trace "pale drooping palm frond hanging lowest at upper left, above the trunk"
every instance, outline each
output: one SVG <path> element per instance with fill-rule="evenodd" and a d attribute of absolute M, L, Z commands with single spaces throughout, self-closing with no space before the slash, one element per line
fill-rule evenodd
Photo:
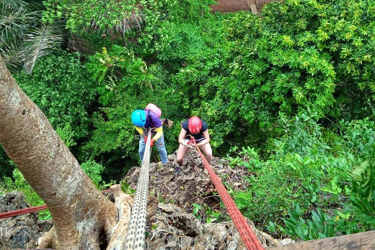
<path fill-rule="evenodd" d="M 23 68 L 26 73 L 33 71 L 38 58 L 45 56 L 60 46 L 62 42 L 61 27 L 55 23 L 35 28 L 30 34 L 24 36 Z"/>

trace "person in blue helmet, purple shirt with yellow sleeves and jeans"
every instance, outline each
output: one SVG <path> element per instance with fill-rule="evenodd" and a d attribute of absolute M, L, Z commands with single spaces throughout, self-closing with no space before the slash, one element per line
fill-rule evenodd
<path fill-rule="evenodd" d="M 156 134 L 151 139 L 150 146 L 153 146 L 154 142 L 156 142 L 156 146 L 159 150 L 160 158 L 162 160 L 162 164 L 165 165 L 168 163 L 167 157 L 167 149 L 164 144 L 164 133 L 163 133 L 163 123 L 160 120 L 159 116 L 150 110 L 144 109 L 137 109 L 134 110 L 131 114 L 131 121 L 137 131 L 142 135 L 141 139 L 139 140 L 139 157 L 141 161 L 143 161 L 143 155 L 145 154 L 145 147 L 147 136 L 144 135 L 144 129 L 151 129 L 155 128 Z"/>

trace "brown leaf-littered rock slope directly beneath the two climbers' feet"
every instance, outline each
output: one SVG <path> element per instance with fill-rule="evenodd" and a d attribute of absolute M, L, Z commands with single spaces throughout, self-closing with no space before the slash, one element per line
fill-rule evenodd
<path fill-rule="evenodd" d="M 175 174 L 176 154 L 177 152 L 168 155 L 168 164 L 165 166 L 162 166 L 161 163 L 150 164 L 150 195 L 158 197 L 159 201 L 173 203 L 188 213 L 193 211 L 193 203 L 199 205 L 205 203 L 225 214 L 226 209 L 220 207 L 220 198 L 213 193 L 216 189 L 207 170 L 204 169 L 199 154 L 195 150 L 190 150 L 180 172 Z M 248 182 L 242 179 L 244 172 L 248 172 L 247 168 L 236 167 L 233 169 L 229 167 L 228 161 L 220 158 L 213 158 L 211 167 L 219 178 L 234 190 L 247 189 Z M 139 171 L 140 167 L 133 167 L 124 178 L 132 188 L 137 187 Z"/>

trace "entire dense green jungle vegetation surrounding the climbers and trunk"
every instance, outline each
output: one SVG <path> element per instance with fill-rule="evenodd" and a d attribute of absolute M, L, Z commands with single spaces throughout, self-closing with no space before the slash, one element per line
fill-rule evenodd
<path fill-rule="evenodd" d="M 375 0 L 211 4 L 3 0 L 0 53 L 98 187 L 139 164 L 130 114 L 154 103 L 169 154 L 180 122 L 207 122 L 214 156 L 249 169 L 229 192 L 273 236 L 375 229 Z M 3 150 L 0 176 L 42 204 Z"/>

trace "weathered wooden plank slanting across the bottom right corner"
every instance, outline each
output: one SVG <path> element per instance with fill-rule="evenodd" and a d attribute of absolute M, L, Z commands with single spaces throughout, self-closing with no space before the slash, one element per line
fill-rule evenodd
<path fill-rule="evenodd" d="M 267 250 L 375 250 L 375 231 L 267 248 Z"/>

